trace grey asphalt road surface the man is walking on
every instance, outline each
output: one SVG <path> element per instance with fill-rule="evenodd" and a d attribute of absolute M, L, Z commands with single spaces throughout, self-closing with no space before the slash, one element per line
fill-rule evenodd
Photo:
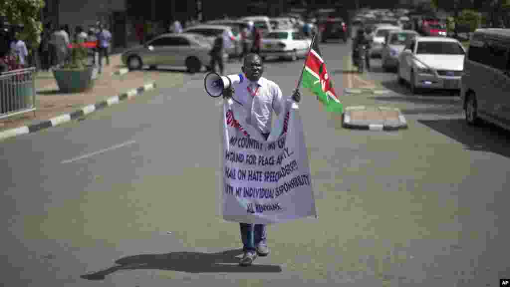
<path fill-rule="evenodd" d="M 321 45 L 339 94 L 347 47 Z M 289 95 L 301 65 L 267 61 L 265 76 Z M 366 81 L 393 77 L 376 74 Z M 319 218 L 270 226 L 270 256 L 238 267 L 239 227 L 218 216 L 220 108 L 203 76 L 0 142 L 3 285 L 498 286 L 510 277 L 510 134 L 466 126 L 450 97 L 398 91 L 341 95 L 345 105 L 401 108 L 409 129 L 391 133 L 342 129 L 303 92 Z"/>

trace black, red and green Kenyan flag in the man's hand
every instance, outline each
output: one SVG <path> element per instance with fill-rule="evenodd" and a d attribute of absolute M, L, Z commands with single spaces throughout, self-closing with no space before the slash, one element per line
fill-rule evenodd
<path fill-rule="evenodd" d="M 340 114 L 343 112 L 342 103 L 338 100 L 333 89 L 333 82 L 327 74 L 326 64 L 322 60 L 315 37 L 312 42 L 312 49 L 305 61 L 301 83 L 303 87 L 309 88 L 317 95 L 317 99 L 324 104 L 327 111 Z"/>

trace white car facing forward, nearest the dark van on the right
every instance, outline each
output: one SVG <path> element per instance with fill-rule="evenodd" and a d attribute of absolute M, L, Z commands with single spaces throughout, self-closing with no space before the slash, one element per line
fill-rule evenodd
<path fill-rule="evenodd" d="M 400 54 L 398 80 L 409 82 L 413 93 L 419 88 L 460 90 L 465 55 L 453 38 L 413 38 Z"/>

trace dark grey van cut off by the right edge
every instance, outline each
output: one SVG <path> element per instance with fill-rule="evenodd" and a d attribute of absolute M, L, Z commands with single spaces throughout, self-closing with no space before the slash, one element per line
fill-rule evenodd
<path fill-rule="evenodd" d="M 479 118 L 510 130 L 510 29 L 478 29 L 464 61 L 461 96 L 466 121 Z"/>

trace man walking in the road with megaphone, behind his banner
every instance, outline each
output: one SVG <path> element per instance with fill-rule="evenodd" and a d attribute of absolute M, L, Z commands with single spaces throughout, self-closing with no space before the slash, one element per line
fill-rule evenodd
<path fill-rule="evenodd" d="M 264 66 L 257 54 L 246 55 L 241 70 L 247 81 L 225 89 L 223 95 L 225 98 L 235 95 L 235 99 L 243 106 L 251 107 L 248 124 L 256 128 L 267 140 L 271 131 L 273 112 L 279 115 L 285 108 L 282 90 L 275 82 L 262 77 Z M 293 91 L 292 99 L 296 102 L 301 99 L 298 89 Z M 266 225 L 247 223 L 239 225 L 244 252 L 239 264 L 248 266 L 257 256 L 269 255 Z"/>

